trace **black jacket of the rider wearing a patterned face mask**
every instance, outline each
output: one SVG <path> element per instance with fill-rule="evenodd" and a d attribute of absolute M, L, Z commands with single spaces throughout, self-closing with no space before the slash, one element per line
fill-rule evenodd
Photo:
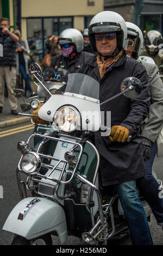
<path fill-rule="evenodd" d="M 92 56 L 94 56 L 94 54 L 90 52 L 80 52 L 71 59 L 62 56 L 62 54 L 58 54 L 52 59 L 51 67 L 62 68 L 68 70 L 70 73 L 76 73 L 76 71 L 83 64 L 84 60 Z"/>

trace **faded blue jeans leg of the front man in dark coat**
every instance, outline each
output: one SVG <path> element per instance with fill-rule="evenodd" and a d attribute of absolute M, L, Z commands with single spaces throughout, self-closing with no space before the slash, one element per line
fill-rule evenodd
<path fill-rule="evenodd" d="M 136 181 L 115 185 L 133 245 L 153 245 L 146 213 L 136 190 Z"/>

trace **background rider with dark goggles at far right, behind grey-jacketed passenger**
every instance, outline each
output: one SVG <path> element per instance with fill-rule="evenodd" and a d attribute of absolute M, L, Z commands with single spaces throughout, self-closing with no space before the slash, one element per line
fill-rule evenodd
<path fill-rule="evenodd" d="M 158 31 L 148 31 L 145 34 L 145 47 L 140 56 L 151 57 L 159 68 L 160 75 L 163 75 L 163 51 L 161 51 L 162 35 Z M 161 78 L 163 82 L 163 77 Z"/>

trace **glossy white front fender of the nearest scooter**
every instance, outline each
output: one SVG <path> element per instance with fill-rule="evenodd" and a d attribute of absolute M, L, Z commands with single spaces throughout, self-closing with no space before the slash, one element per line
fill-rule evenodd
<path fill-rule="evenodd" d="M 21 200 L 10 212 L 3 230 L 28 240 L 57 231 L 61 243 L 67 240 L 64 210 L 57 203 L 41 197 Z"/>

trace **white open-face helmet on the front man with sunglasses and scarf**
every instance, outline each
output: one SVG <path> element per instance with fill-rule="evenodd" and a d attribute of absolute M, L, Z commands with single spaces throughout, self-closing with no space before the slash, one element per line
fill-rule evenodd
<path fill-rule="evenodd" d="M 95 33 L 113 32 L 117 34 L 117 48 L 124 49 L 127 40 L 127 27 L 123 17 L 114 11 L 102 11 L 96 14 L 89 25 L 89 38 L 93 51 L 97 52 Z"/>

